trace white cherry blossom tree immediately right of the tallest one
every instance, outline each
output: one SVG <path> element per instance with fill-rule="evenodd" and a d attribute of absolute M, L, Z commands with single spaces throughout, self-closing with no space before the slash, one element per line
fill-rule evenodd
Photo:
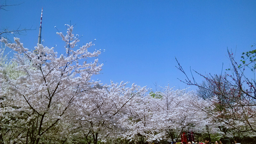
<path fill-rule="evenodd" d="M 115 140 L 127 129 L 124 120 L 128 109 L 133 105 L 133 99 L 144 95 L 147 89 L 135 84 L 129 88 L 125 87 L 126 84 L 96 84 L 93 90 L 86 91 L 76 101 L 79 109 L 78 124 L 88 143 Z"/>

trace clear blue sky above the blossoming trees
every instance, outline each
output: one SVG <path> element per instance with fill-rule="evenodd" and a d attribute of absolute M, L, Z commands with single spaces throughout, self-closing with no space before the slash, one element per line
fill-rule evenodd
<path fill-rule="evenodd" d="M 8 5 L 22 2 L 6 1 Z M 104 84 L 113 80 L 154 87 L 157 82 L 185 88 L 177 79 L 184 75 L 175 68 L 175 57 L 187 72 L 191 66 L 203 74 L 219 74 L 222 63 L 228 68 L 227 47 L 236 50 L 240 60 L 241 53 L 256 43 L 255 0 L 24 0 L 5 7 L 8 11 L 0 10 L 0 27 L 36 28 L 17 36 L 34 50 L 42 6 L 44 46 L 57 44 L 55 51 L 64 53 L 54 26 L 65 33 L 64 24 L 71 20 L 76 24 L 74 33 L 84 35 L 80 45 L 96 38 L 92 50 L 106 49 L 99 57 L 103 74 L 93 77 Z"/>

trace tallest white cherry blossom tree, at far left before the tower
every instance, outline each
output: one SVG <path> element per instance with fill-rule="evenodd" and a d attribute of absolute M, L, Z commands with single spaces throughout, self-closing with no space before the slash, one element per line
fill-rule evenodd
<path fill-rule="evenodd" d="M 78 36 L 68 26 L 67 35 L 57 33 L 66 43 L 65 54 L 58 56 L 54 48 L 37 44 L 38 54 L 24 48 L 19 38 L 1 42 L 17 53 L 12 59 L 16 71 L 25 75 L 13 79 L 6 68 L 0 69 L 1 134 L 5 143 L 42 143 L 54 128 L 75 113 L 74 100 L 94 83 L 91 76 L 99 74 L 103 64 L 100 51 L 89 52 L 92 42 L 76 48 Z M 29 61 L 29 63 L 27 63 Z M 47 137 L 46 137 L 47 136 Z"/>

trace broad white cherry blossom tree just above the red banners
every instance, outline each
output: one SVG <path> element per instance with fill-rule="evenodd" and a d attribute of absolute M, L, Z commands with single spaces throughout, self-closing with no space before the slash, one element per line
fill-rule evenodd
<path fill-rule="evenodd" d="M 203 100 L 195 92 L 173 90 L 168 85 L 163 92 L 155 92 L 134 99 L 130 107 L 124 137 L 129 140 L 175 141 L 181 132 L 204 132 L 206 115 L 203 111 L 191 107 L 192 102 Z"/>

